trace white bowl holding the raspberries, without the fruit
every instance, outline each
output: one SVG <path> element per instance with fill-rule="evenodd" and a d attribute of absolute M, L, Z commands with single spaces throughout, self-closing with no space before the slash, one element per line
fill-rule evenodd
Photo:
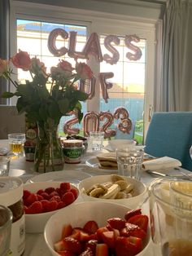
<path fill-rule="evenodd" d="M 60 183 L 61 182 L 56 182 L 56 181 L 55 182 L 25 183 L 23 188 L 27 189 L 29 192 L 34 193 L 34 192 L 37 192 L 39 189 L 46 189 L 46 188 L 49 188 L 49 187 L 59 188 Z M 76 188 L 76 187 L 71 184 L 71 188 Z M 78 197 L 79 197 L 80 192 L 79 192 L 78 188 L 76 188 L 76 190 L 78 192 Z M 78 197 L 76 198 L 76 200 L 78 199 Z M 66 207 L 68 208 L 68 206 L 65 206 L 65 208 Z M 25 214 L 25 231 L 27 233 L 41 233 L 41 232 L 43 232 L 44 227 L 46 226 L 46 222 L 50 218 L 50 216 L 52 216 L 56 212 L 59 212 L 60 210 L 61 209 L 46 212 L 46 213 L 41 213 L 41 214 Z"/>

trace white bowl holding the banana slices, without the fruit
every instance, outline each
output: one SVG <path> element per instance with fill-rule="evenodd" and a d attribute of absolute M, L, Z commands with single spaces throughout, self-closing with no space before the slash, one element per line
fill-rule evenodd
<path fill-rule="evenodd" d="M 122 176 L 128 183 L 133 183 L 133 197 L 124 198 L 124 199 L 101 199 L 92 196 L 88 196 L 83 192 L 91 188 L 96 183 L 106 183 L 111 181 L 111 175 L 97 175 L 87 179 L 82 180 L 79 183 L 79 190 L 81 192 L 81 197 L 84 201 L 106 201 L 112 202 L 120 205 L 126 205 L 130 209 L 136 208 L 146 196 L 146 185 L 137 179 L 131 179 L 125 176 Z"/>

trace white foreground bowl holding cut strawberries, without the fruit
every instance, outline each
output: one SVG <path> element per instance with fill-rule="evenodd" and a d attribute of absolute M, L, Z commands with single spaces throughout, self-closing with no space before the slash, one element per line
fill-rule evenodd
<path fill-rule="evenodd" d="M 109 202 L 80 202 L 70 205 L 68 208 L 63 208 L 58 213 L 54 214 L 46 223 L 44 237 L 46 245 L 50 249 L 53 256 L 58 256 L 54 249 L 55 242 L 61 239 L 62 227 L 66 224 L 71 224 L 72 227 L 83 227 L 89 220 L 94 220 L 98 223 L 98 227 L 106 226 L 107 219 L 113 217 L 124 218 L 124 214 L 129 210 L 124 205 L 111 204 Z M 147 250 L 147 245 L 150 241 L 150 231 L 148 228 L 147 237 L 143 242 L 142 252 L 137 256 L 144 255 Z"/>

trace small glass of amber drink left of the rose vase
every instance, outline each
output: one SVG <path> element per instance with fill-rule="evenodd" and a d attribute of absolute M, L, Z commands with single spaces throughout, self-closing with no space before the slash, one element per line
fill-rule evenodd
<path fill-rule="evenodd" d="M 25 134 L 9 134 L 8 135 L 10 150 L 14 155 L 24 154 Z"/>

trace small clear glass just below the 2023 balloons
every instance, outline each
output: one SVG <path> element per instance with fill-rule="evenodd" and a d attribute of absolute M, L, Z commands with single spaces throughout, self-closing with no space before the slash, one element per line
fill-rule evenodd
<path fill-rule="evenodd" d="M 90 147 L 93 151 L 102 150 L 103 139 L 104 139 L 103 131 L 90 131 L 89 132 Z"/>

